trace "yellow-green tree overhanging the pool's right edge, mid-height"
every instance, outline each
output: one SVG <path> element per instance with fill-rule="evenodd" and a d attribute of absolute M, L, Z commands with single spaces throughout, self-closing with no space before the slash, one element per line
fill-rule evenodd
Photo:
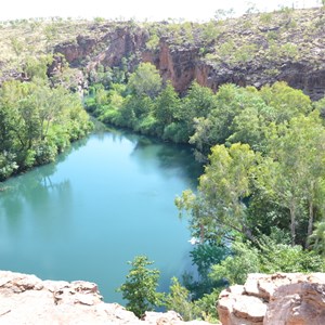
<path fill-rule="evenodd" d="M 191 211 L 194 226 L 200 229 L 202 242 L 207 234 L 231 239 L 243 235 L 253 240 L 246 202 L 252 195 L 259 158 L 248 144 L 211 148 L 210 165 L 199 178 L 197 195 L 186 191 L 176 200 L 180 210 Z"/>

